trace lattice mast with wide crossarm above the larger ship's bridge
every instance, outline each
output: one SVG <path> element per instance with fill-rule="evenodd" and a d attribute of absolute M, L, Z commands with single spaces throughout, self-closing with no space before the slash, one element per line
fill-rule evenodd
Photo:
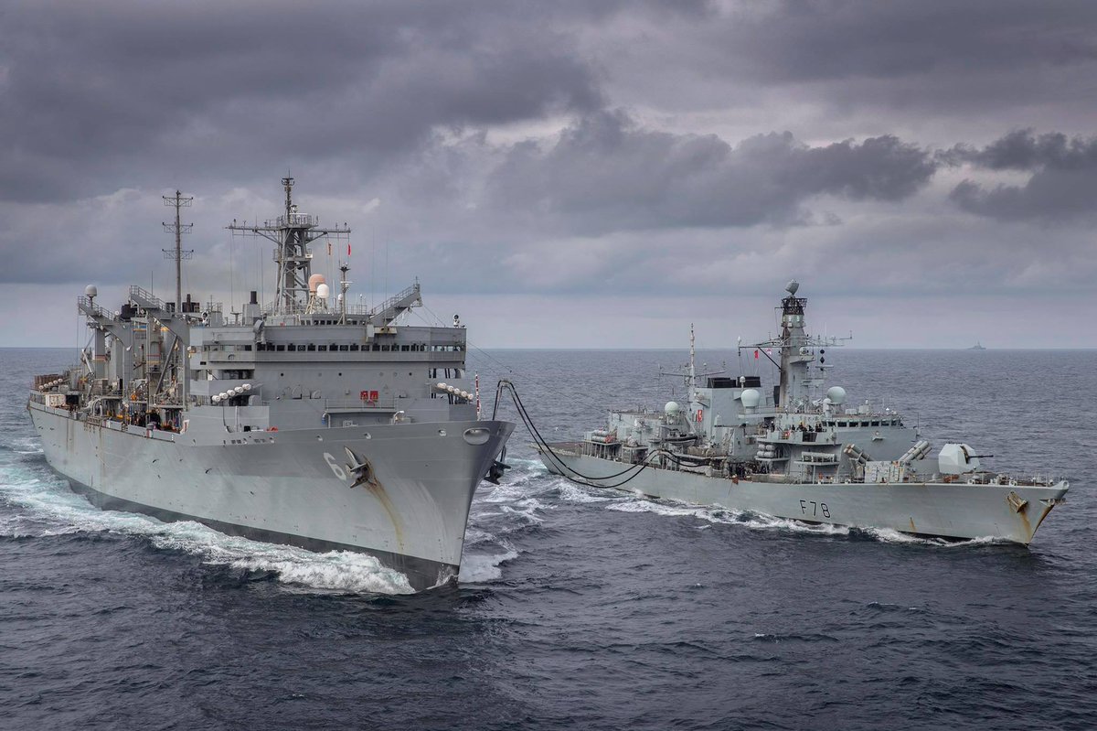
<path fill-rule="evenodd" d="M 333 228 L 321 228 L 315 216 L 298 213 L 293 203 L 293 178 L 282 178 L 285 189 L 285 214 L 262 225 L 237 223 L 227 228 L 242 236 L 262 236 L 274 241 L 274 261 L 278 263 L 278 282 L 274 313 L 287 315 L 303 312 L 308 305 L 308 278 L 313 273 L 313 255 L 308 245 L 318 238 L 349 240 L 350 228 L 344 223 Z"/>

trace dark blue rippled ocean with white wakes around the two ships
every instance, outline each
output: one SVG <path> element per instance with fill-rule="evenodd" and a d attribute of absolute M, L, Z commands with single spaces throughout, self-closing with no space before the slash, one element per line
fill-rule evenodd
<path fill-rule="evenodd" d="M 1097 351 L 827 359 L 853 403 L 1065 475 L 1068 503 L 1027 549 L 807 527 L 576 487 L 516 431 L 461 585 L 394 595 L 364 556 L 92 508 L 24 412 L 75 351 L 0 350 L 0 729 L 1097 728 Z M 685 360 L 470 364 L 488 411 L 510 378 L 565 439 L 682 398 L 657 372 Z"/>

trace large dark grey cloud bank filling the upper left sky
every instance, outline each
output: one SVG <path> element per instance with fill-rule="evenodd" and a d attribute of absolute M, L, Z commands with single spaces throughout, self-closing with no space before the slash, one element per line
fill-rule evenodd
<path fill-rule="evenodd" d="M 438 128 L 601 105 L 570 41 L 486 3 L 16 3 L 0 44 L 0 196 L 101 193 L 352 158 Z M 494 11 L 494 12 L 491 12 Z M 152 175 L 149 175 L 152 173 Z"/>

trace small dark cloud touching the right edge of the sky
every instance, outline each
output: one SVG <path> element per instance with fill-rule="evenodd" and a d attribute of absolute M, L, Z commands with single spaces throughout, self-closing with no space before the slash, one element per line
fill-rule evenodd
<path fill-rule="evenodd" d="M 1030 173 L 1024 184 L 985 187 L 968 179 L 950 199 L 964 211 L 1006 221 L 1062 223 L 1097 215 L 1097 138 L 1011 132 L 983 147 L 957 146 L 941 155 L 992 171 Z"/>

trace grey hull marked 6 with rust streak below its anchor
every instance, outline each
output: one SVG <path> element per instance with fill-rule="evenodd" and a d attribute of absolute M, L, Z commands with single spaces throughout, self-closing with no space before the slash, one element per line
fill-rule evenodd
<path fill-rule="evenodd" d="M 105 508 L 376 556 L 421 591 L 455 580 L 473 493 L 513 430 L 504 421 L 184 434 L 89 424 L 29 406 L 46 461 Z M 486 429 L 488 438 L 466 438 Z M 482 438 L 483 431 L 476 432 Z M 366 436 L 367 435 L 367 436 Z M 347 449 L 374 480 L 352 486 Z"/>

